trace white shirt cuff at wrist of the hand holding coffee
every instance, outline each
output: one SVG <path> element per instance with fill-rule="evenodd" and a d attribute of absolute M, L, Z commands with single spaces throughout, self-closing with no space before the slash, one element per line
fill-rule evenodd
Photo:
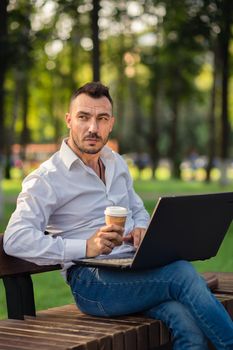
<path fill-rule="evenodd" d="M 86 256 L 86 240 L 64 239 L 64 261 L 72 261 Z"/>

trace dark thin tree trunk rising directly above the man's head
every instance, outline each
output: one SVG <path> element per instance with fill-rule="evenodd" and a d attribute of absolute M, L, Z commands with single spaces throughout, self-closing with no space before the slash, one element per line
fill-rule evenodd
<path fill-rule="evenodd" d="M 100 80 L 100 42 L 99 42 L 99 10 L 100 1 L 93 0 L 93 10 L 92 10 L 92 41 L 93 41 L 93 56 L 92 56 L 92 66 L 93 66 L 93 80 Z"/>

